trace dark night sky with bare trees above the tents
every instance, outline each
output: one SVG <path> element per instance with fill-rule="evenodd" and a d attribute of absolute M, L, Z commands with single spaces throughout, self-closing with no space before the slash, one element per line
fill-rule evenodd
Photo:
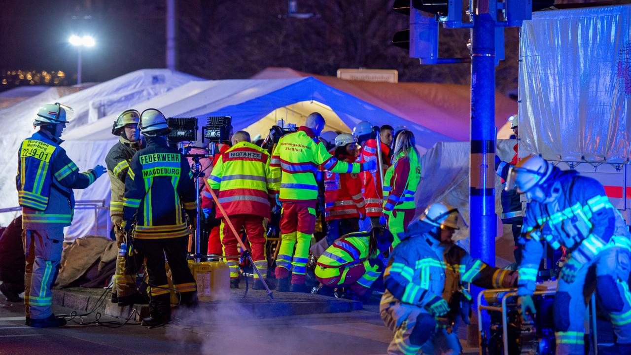
<path fill-rule="evenodd" d="M 557 3 L 575 3 L 558 0 Z M 298 0 L 307 19 L 288 18 L 287 0 L 178 0 L 177 70 L 208 79 L 249 78 L 268 66 L 320 75 L 338 68 L 398 69 L 399 81 L 469 83 L 469 64 L 420 66 L 392 35 L 408 18 L 394 0 Z M 0 1 L 0 74 L 58 71 L 76 82 L 71 34 L 90 34 L 83 81 L 105 81 L 142 68 L 165 67 L 163 0 Z M 466 29 L 440 30 L 442 57 L 468 56 Z M 518 30 L 505 29 L 497 89 L 517 89 Z M 8 85 L 0 85 L 0 91 Z"/>

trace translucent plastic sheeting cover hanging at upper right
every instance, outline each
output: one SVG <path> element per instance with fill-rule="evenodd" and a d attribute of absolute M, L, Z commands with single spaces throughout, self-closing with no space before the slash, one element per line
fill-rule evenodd
<path fill-rule="evenodd" d="M 631 6 L 533 13 L 520 59 L 521 156 L 629 161 Z"/>

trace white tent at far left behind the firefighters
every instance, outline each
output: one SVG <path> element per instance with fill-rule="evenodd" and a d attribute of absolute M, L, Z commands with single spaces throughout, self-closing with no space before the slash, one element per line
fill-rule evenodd
<path fill-rule="evenodd" d="M 33 117 L 40 105 L 61 102 L 73 107 L 74 117 L 68 124 L 68 129 L 73 129 L 92 121 L 98 121 L 99 118 L 107 114 L 120 112 L 131 105 L 168 92 L 172 88 L 192 80 L 200 79 L 167 69 L 143 69 L 80 91 L 77 91 L 78 88 L 49 88 L 18 104 L 0 109 L 0 124 L 4 131 L 3 135 L 0 136 L 0 149 L 4 152 L 0 157 L 0 163 L 4 167 L 3 171 L 0 172 L 0 208 L 18 205 L 15 191 L 16 152 L 20 142 L 35 131 L 32 126 Z M 111 127 L 112 121 L 109 125 Z M 83 170 L 96 164 L 104 164 L 105 155 L 92 152 L 88 145 L 64 144 L 64 148 Z M 83 155 L 88 156 L 88 158 L 83 159 Z M 97 155 L 101 159 L 95 161 L 93 157 Z M 100 184 L 103 182 L 99 181 Z M 78 191 L 77 200 L 101 200 L 105 198 L 102 193 L 95 193 L 93 188 L 94 186 L 91 186 L 86 190 Z M 15 214 L 0 214 L 0 224 L 6 226 L 13 217 Z M 83 223 L 84 218 L 90 220 L 85 220 Z M 68 234 L 81 236 L 87 234 L 94 225 L 94 219 L 91 211 L 77 211 L 74 218 L 75 223 Z M 104 221 L 105 219 L 102 220 L 100 226 L 105 226 Z"/>

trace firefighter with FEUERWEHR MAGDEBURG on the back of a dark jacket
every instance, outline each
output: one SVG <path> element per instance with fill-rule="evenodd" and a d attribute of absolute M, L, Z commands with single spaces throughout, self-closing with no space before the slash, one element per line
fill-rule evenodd
<path fill-rule="evenodd" d="M 125 180 L 122 227 L 130 232 L 134 220 L 134 248 L 144 255 L 149 276 L 149 314 L 143 325 L 162 325 L 170 320 L 170 300 L 164 257 L 173 276 L 180 304 L 195 306 L 197 287 L 186 262 L 189 229 L 197 226 L 197 193 L 187 160 L 168 147 L 169 129 L 162 112 L 144 110 L 140 131 L 147 147 L 136 152 L 129 162 Z M 193 231 L 194 232 L 194 231 Z"/>

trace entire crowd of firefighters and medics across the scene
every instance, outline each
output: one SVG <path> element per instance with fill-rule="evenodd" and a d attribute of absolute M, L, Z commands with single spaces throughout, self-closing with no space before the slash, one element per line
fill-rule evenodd
<path fill-rule="evenodd" d="M 325 120 L 314 112 L 303 126 L 264 141 L 252 142 L 249 133 L 231 128 L 228 141 L 213 145 L 215 152 L 208 151 L 208 142 L 187 145 L 188 155 L 203 156 L 194 175 L 192 157 L 169 145 L 162 112 L 130 109 L 112 126 L 119 141 L 107 154 L 107 167 L 80 172 L 61 147 L 71 113 L 58 103 L 40 107 L 37 131 L 17 152 L 25 277 L 23 284 L 5 279 L 0 289 L 14 299 L 25 292 L 30 327 L 66 324 L 51 311 L 50 288 L 63 230 L 73 219 L 73 190 L 87 188 L 107 172 L 115 238 L 123 248 L 133 243 L 148 275 L 141 291 L 121 253 L 112 302 L 149 303 L 143 325 L 170 321 L 171 289 L 180 308 L 194 312 L 198 305 L 187 258 L 199 218 L 203 251 L 226 258 L 232 288 L 252 277 L 254 289 L 269 286 L 276 292 L 367 301 L 375 289 L 382 291 L 380 316 L 393 333 L 389 354 L 461 352 L 456 329 L 461 321 L 469 322 L 468 284 L 517 287 L 522 315 L 536 313 L 533 292 L 545 241 L 563 251 L 565 263 L 553 306 L 557 354 L 584 353 L 586 295 L 594 290 L 613 325 L 612 353 L 631 353 L 630 234 L 594 179 L 562 171 L 536 155 L 519 160 L 516 153 L 510 162 L 496 157 L 505 186 L 502 220 L 512 224 L 517 262 L 516 270 L 500 269 L 452 241 L 465 224 L 457 208 L 436 202 L 415 218 L 422 167 L 415 136 L 405 127 L 374 129 L 362 121 L 353 134 L 322 132 Z M 518 135 L 516 119 L 512 128 Z M 525 213 L 521 194 L 528 200 Z M 244 250 L 228 219 L 247 240 L 250 266 L 262 279 L 242 271 Z M 310 254 L 314 234 L 321 236 L 320 251 Z M 314 254 L 317 258 L 310 260 Z"/>

